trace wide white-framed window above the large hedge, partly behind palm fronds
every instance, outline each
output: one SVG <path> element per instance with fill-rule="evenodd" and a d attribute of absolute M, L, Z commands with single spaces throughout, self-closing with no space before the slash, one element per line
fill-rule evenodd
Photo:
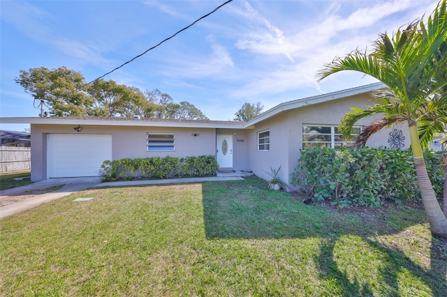
<path fill-rule="evenodd" d="M 311 148 L 354 148 L 360 127 L 353 127 L 351 141 L 342 139 L 338 125 L 303 125 L 302 149 Z"/>

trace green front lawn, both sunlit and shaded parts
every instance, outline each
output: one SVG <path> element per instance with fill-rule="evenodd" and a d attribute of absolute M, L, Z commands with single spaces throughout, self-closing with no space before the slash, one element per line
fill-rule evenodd
<path fill-rule="evenodd" d="M 0 295 L 445 296 L 446 241 L 420 208 L 336 211 L 263 189 L 101 188 L 3 219 Z"/>

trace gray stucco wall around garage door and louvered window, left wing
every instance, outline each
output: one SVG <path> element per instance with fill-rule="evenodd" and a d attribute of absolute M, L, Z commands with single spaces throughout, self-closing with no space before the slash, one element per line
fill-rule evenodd
<path fill-rule="evenodd" d="M 175 133 L 175 151 L 146 151 L 146 133 Z M 31 181 L 47 178 L 47 134 L 78 134 L 73 125 L 31 125 Z M 82 134 L 112 135 L 112 159 L 148 157 L 186 157 L 215 155 L 214 128 L 150 128 L 129 126 L 82 125 Z M 194 137 L 193 133 L 199 134 Z M 87 144 L 86 144 L 87 145 Z"/>

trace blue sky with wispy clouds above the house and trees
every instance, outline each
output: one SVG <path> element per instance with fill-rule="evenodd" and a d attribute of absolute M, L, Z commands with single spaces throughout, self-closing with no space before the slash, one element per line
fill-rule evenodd
<path fill-rule="evenodd" d="M 38 116 L 20 70 L 76 70 L 87 81 L 145 52 L 225 1 L 0 1 L 0 116 Z M 244 102 L 275 105 L 376 82 L 324 63 L 372 48 L 379 33 L 430 15 L 438 1 L 233 0 L 104 77 L 188 101 L 212 120 Z M 27 125 L 2 124 L 23 130 Z"/>

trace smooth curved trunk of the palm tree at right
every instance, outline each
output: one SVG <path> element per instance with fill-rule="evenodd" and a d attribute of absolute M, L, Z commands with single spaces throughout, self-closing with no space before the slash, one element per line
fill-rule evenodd
<path fill-rule="evenodd" d="M 413 148 L 414 167 L 416 168 L 416 176 L 418 176 L 420 196 L 422 197 L 425 213 L 427 213 L 428 221 L 430 222 L 430 230 L 434 236 L 447 239 L 447 218 L 441 210 L 441 206 L 433 190 L 432 182 L 428 177 L 417 127 L 415 124 L 410 124 L 409 128 L 411 147 Z"/>

